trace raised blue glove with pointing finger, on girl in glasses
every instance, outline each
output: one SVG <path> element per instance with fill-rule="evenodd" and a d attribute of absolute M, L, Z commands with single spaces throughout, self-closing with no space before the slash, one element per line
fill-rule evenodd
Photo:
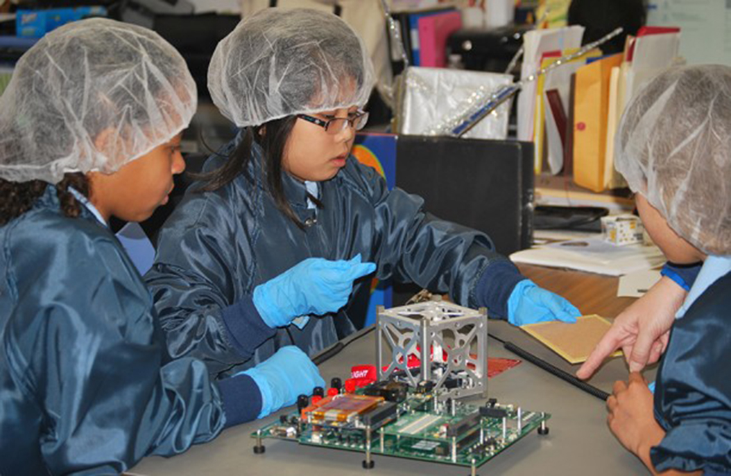
<path fill-rule="evenodd" d="M 375 264 L 360 262 L 360 254 L 350 261 L 307 258 L 254 288 L 254 306 L 271 328 L 300 315 L 336 312 L 347 304 L 353 280 L 375 270 Z"/>

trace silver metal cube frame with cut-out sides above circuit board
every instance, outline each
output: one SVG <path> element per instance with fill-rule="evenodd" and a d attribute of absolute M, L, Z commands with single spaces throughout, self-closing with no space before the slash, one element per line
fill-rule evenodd
<path fill-rule="evenodd" d="M 376 316 L 379 380 L 431 382 L 440 401 L 488 393 L 488 312 L 446 301 L 384 309 Z"/>

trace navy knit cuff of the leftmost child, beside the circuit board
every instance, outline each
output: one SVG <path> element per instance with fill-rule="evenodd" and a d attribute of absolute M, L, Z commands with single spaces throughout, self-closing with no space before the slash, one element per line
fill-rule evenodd
<path fill-rule="evenodd" d="M 262 393 L 253 378 L 240 374 L 218 383 L 226 415 L 224 428 L 257 419 L 262 411 Z"/>

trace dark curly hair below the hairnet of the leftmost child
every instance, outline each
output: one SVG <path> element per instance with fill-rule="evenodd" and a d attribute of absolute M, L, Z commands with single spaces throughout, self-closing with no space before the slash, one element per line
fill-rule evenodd
<path fill-rule="evenodd" d="M 39 199 L 48 187 L 48 182 L 43 180 L 30 180 L 29 182 L 10 182 L 0 179 L 0 226 L 8 223 L 13 218 L 18 218 L 33 207 L 34 202 Z M 75 199 L 69 187 L 89 196 L 89 181 L 86 175 L 81 172 L 64 174 L 61 182 L 56 184 L 56 195 L 61 201 L 61 212 L 69 218 L 77 218 L 81 213 L 82 205 Z"/>

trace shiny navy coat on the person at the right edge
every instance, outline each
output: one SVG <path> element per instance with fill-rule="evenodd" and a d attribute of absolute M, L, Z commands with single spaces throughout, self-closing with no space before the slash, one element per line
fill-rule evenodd
<path fill-rule="evenodd" d="M 658 471 L 731 474 L 731 273 L 675 320 L 657 373 L 655 417 L 667 431 L 650 451 Z"/>

